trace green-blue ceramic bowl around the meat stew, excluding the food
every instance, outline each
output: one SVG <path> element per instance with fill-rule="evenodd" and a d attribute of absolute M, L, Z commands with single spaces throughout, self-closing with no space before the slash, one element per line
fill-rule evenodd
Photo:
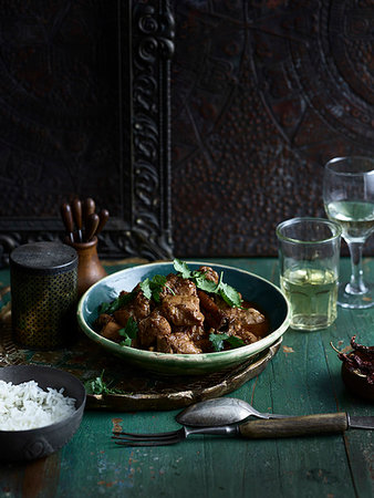
<path fill-rule="evenodd" d="M 253 361 L 258 353 L 272 345 L 285 332 L 290 322 L 290 307 L 281 290 L 266 279 L 245 270 L 222 264 L 189 262 L 191 270 L 210 266 L 218 273 L 224 271 L 226 283 L 241 292 L 243 299 L 251 301 L 267 315 L 270 333 L 260 341 L 230 351 L 204 354 L 167 354 L 121 346 L 101 336 L 93 330 L 97 310 L 102 302 L 115 299 L 122 290 L 131 291 L 141 280 L 155 274 L 175 272 L 173 262 L 155 262 L 113 273 L 92 286 L 81 298 L 77 320 L 83 332 L 106 351 L 120 356 L 126 363 L 162 374 L 200 375 L 218 372 Z"/>

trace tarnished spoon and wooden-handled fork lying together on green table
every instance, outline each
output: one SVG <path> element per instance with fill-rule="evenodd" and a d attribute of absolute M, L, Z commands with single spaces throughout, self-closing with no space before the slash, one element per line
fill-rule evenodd
<path fill-rule="evenodd" d="M 250 416 L 254 419 L 249 419 Z M 373 416 L 356 417 L 344 412 L 297 417 L 276 415 L 260 413 L 236 398 L 197 403 L 177 415 L 176 419 L 183 424 L 177 430 L 150 434 L 115 430 L 112 437 L 117 445 L 136 447 L 174 445 L 195 434 L 259 439 L 343 433 L 349 428 L 374 429 Z"/>

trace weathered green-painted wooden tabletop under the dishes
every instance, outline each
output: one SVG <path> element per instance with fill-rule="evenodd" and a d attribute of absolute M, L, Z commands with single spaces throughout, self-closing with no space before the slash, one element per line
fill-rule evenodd
<path fill-rule="evenodd" d="M 215 259 L 278 284 L 276 259 Z M 342 274 L 349 261 L 342 260 Z M 110 272 L 122 269 L 111 264 Z M 374 274 L 374 260 L 364 261 Z M 372 278 L 374 280 L 374 278 Z M 9 272 L 0 272 L 1 287 Z M 374 309 L 339 309 L 336 322 L 319 332 L 289 330 L 268 367 L 230 396 L 259 411 L 307 415 L 347 411 L 374 415 L 373 404 L 349 394 L 332 350 L 374 344 Z M 111 439 L 115 424 L 129 432 L 175 429 L 168 412 L 85 412 L 73 439 L 59 453 L 28 465 L 0 465 L 1 497 L 372 497 L 374 438 L 371 430 L 292 439 L 246 440 L 193 436 L 175 446 L 124 448 Z M 0 448 L 1 452 L 6 448 Z"/>

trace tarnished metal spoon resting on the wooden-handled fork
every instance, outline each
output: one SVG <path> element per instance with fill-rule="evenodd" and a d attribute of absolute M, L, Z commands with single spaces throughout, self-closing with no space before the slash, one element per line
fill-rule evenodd
<path fill-rule="evenodd" d="M 188 406 L 176 416 L 176 421 L 190 427 L 207 427 L 236 424 L 251 415 L 266 419 L 289 417 L 289 415 L 260 413 L 249 403 L 236 397 L 218 397 Z"/>

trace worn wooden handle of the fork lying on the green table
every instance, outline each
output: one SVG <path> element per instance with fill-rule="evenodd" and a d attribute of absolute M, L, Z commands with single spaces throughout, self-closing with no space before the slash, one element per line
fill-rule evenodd
<path fill-rule="evenodd" d="M 345 413 L 326 413 L 267 421 L 246 422 L 239 426 L 243 437 L 271 438 L 342 433 L 349 428 Z"/>

